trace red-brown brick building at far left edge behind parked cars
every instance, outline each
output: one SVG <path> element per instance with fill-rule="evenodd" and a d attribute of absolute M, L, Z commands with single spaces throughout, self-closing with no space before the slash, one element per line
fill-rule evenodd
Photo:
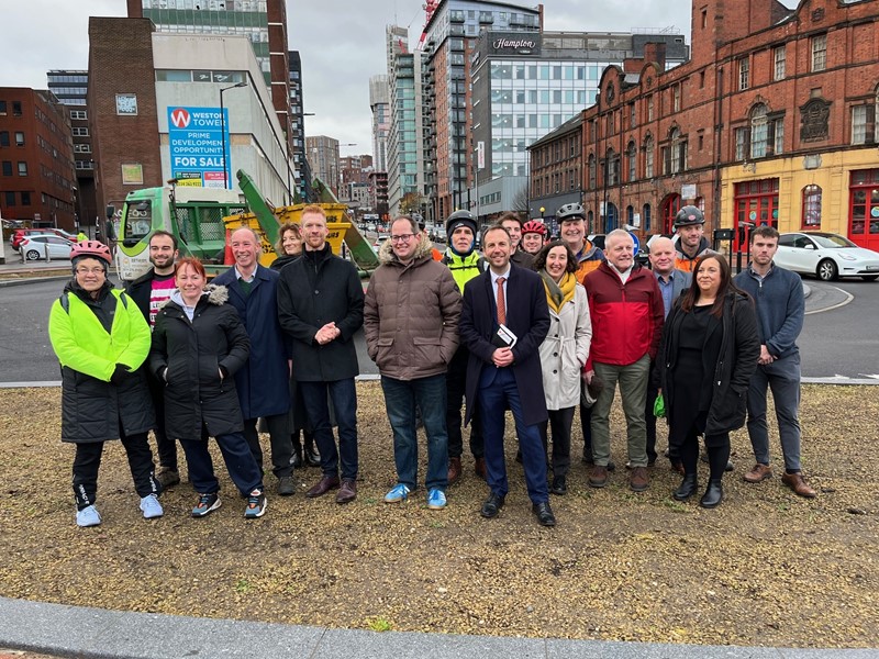
<path fill-rule="evenodd" d="M 0 88 L 0 210 L 33 226 L 76 226 L 74 144 L 51 92 Z"/>

